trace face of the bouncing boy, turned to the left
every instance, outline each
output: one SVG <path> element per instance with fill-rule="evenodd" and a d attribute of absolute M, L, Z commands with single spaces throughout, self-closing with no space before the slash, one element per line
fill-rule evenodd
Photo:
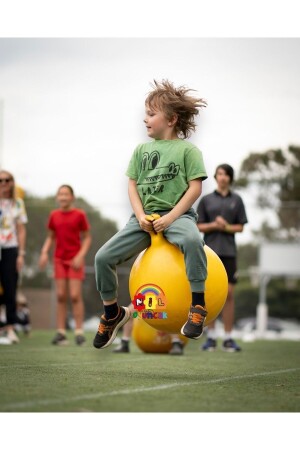
<path fill-rule="evenodd" d="M 146 105 L 145 119 L 148 136 L 153 139 L 169 139 L 174 126 L 159 109 Z"/>

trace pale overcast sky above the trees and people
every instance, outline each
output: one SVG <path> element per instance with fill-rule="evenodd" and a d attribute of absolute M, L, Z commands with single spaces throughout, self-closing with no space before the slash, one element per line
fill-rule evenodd
<path fill-rule="evenodd" d="M 149 140 L 144 101 L 154 79 L 208 103 L 189 139 L 203 153 L 203 195 L 215 188 L 218 164 L 238 174 L 250 152 L 300 144 L 297 38 L 1 38 L 0 165 L 37 196 L 71 184 L 124 226 L 125 171 Z M 253 199 L 244 200 L 241 242 L 257 226 Z"/>

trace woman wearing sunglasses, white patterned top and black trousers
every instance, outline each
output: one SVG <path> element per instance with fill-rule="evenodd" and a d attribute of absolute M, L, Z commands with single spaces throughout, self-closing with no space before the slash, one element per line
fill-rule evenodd
<path fill-rule="evenodd" d="M 0 283 L 3 291 L 6 322 L 4 332 L 10 343 L 19 343 L 17 323 L 17 284 L 24 266 L 27 213 L 17 197 L 13 175 L 0 170 Z"/>

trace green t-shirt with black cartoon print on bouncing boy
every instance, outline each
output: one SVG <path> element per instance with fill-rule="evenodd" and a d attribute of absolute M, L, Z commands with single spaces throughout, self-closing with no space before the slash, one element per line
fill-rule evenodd
<path fill-rule="evenodd" d="M 149 211 L 173 209 L 189 181 L 207 178 L 201 151 L 182 139 L 138 145 L 126 175 L 136 181 L 143 208 Z"/>

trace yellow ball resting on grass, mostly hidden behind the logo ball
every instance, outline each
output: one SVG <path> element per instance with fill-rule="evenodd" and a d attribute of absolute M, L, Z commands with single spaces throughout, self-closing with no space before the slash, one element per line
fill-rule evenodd
<path fill-rule="evenodd" d="M 132 337 L 145 353 L 168 353 L 172 347 L 172 339 L 169 333 L 150 327 L 144 320 L 134 319 Z M 188 338 L 179 336 L 183 345 L 187 344 Z"/>

